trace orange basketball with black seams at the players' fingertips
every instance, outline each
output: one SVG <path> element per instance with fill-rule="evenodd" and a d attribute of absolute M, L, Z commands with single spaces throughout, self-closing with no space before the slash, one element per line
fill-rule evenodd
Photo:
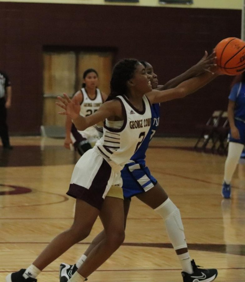
<path fill-rule="evenodd" d="M 245 70 L 245 42 L 236 37 L 221 40 L 215 47 L 216 63 L 223 74 L 235 76 Z"/>

